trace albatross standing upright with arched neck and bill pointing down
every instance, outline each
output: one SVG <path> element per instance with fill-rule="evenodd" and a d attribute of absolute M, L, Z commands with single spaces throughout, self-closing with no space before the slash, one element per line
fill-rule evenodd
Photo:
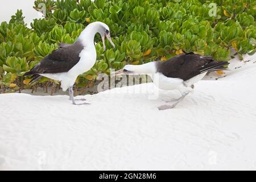
<path fill-rule="evenodd" d="M 43 76 L 60 81 L 64 92 L 69 89 L 69 99 L 75 105 L 73 85 L 77 76 L 89 71 L 96 62 L 97 55 L 94 46 L 94 36 L 97 33 L 101 35 L 104 50 L 106 49 L 105 36 L 112 46 L 115 47 L 110 38 L 109 27 L 102 22 L 93 22 L 81 32 L 75 43 L 60 44 L 59 49 L 44 57 L 40 63 L 36 64 L 24 76 L 32 75 L 30 82 L 37 81 Z"/>

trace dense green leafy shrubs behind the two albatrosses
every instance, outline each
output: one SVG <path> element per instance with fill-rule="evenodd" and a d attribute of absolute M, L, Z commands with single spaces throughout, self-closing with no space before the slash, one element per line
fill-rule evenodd
<path fill-rule="evenodd" d="M 253 0 L 36 0 L 46 5 L 43 19 L 32 28 L 24 24 L 22 10 L 0 25 L 0 92 L 14 92 L 27 85 L 24 72 L 54 51 L 59 43 L 73 43 L 88 23 L 101 21 L 110 27 L 115 49 L 100 36 L 95 41 L 97 61 L 79 76 L 79 88 L 91 86 L 99 73 L 125 64 L 166 60 L 183 52 L 229 60 L 230 49 L 242 58 L 256 51 L 256 1 Z M 216 14 L 210 3 L 216 3 Z M 33 86 L 49 85 L 43 78 Z"/>

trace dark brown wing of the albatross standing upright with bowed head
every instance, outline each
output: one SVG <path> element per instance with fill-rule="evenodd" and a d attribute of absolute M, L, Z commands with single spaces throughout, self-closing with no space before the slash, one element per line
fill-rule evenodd
<path fill-rule="evenodd" d="M 80 52 L 84 49 L 81 43 L 65 44 L 44 57 L 40 63 L 36 64 L 31 71 L 24 76 L 43 73 L 63 73 L 68 72 L 80 60 Z"/>

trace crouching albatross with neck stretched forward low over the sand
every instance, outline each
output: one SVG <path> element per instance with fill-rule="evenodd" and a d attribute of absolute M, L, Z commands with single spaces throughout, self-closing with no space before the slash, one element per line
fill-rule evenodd
<path fill-rule="evenodd" d="M 226 61 L 215 61 L 210 56 L 186 53 L 172 57 L 166 61 L 152 61 L 142 65 L 126 65 L 123 69 L 114 72 L 114 75 L 146 74 L 152 78 L 158 88 L 163 90 L 179 90 L 181 97 L 172 105 L 163 105 L 159 110 L 174 108 L 187 94 L 193 91 L 194 85 L 200 81 L 207 72 L 226 70 Z M 157 76 L 156 76 L 157 74 Z"/>

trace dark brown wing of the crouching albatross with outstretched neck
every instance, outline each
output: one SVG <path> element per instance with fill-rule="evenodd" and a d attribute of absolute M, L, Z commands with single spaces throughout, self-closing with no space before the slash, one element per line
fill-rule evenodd
<path fill-rule="evenodd" d="M 225 65 L 228 64 L 226 61 L 215 61 L 210 56 L 187 53 L 167 61 L 159 61 L 156 67 L 164 76 L 181 78 L 185 81 L 204 72 L 225 69 Z"/>

